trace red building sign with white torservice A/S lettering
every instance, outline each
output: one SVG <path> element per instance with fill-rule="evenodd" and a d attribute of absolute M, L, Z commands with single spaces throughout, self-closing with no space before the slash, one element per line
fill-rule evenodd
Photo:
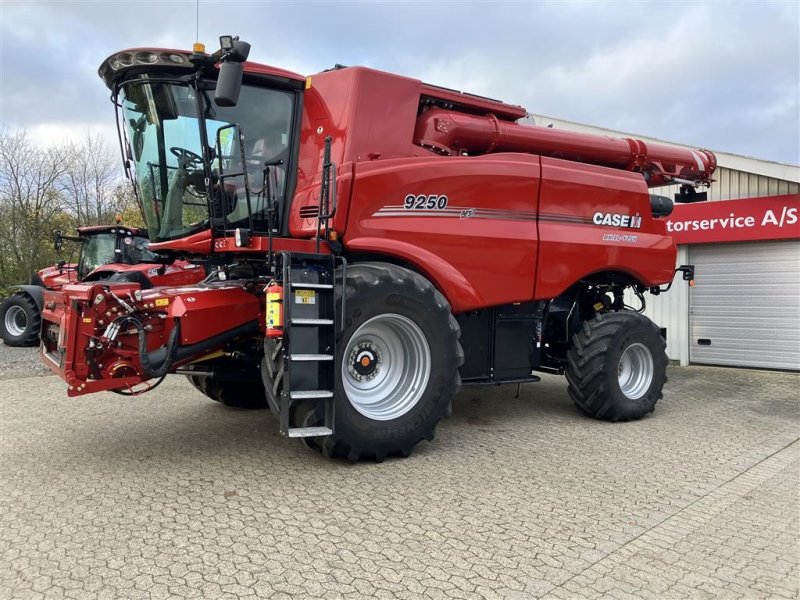
<path fill-rule="evenodd" d="M 677 204 L 666 222 L 676 244 L 800 239 L 800 194 Z"/>

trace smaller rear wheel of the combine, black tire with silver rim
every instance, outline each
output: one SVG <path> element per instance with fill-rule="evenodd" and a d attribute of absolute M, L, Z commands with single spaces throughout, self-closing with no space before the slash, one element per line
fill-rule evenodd
<path fill-rule="evenodd" d="M 667 381 L 666 342 L 644 315 L 598 314 L 572 337 L 569 395 L 584 413 L 630 421 L 653 412 Z"/>

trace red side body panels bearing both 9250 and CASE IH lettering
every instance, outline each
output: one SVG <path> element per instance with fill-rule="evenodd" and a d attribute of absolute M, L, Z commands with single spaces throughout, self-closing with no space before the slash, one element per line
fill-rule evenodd
<path fill-rule="evenodd" d="M 676 247 L 650 211 L 641 176 L 520 154 L 361 164 L 345 247 L 414 265 L 456 313 L 554 298 L 600 271 L 646 286 L 672 279 Z M 444 209 L 405 208 L 447 197 Z M 595 214 L 641 217 L 598 225 Z"/>

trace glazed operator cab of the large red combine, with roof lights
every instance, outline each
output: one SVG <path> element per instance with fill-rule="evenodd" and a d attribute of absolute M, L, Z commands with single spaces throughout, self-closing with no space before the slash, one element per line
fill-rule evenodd
<path fill-rule="evenodd" d="M 212 237 L 281 230 L 300 85 L 250 74 L 231 88 L 225 68 L 238 66 L 241 78 L 249 46 L 239 54 L 231 48 L 232 63 L 224 52 L 148 51 L 120 53 L 101 66 L 118 107 L 126 167 L 159 250 L 206 230 Z"/>

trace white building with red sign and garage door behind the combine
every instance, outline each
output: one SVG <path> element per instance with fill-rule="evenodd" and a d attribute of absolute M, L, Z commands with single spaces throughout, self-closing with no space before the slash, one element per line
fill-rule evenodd
<path fill-rule="evenodd" d="M 689 147 L 531 118 L 556 129 Z M 645 312 L 667 328 L 667 354 L 681 365 L 800 370 L 800 167 L 714 152 L 709 202 L 676 205 L 667 223 L 678 264 L 695 265 L 696 285 L 679 274 L 668 293 L 647 296 Z M 673 197 L 677 186 L 653 191 Z"/>

